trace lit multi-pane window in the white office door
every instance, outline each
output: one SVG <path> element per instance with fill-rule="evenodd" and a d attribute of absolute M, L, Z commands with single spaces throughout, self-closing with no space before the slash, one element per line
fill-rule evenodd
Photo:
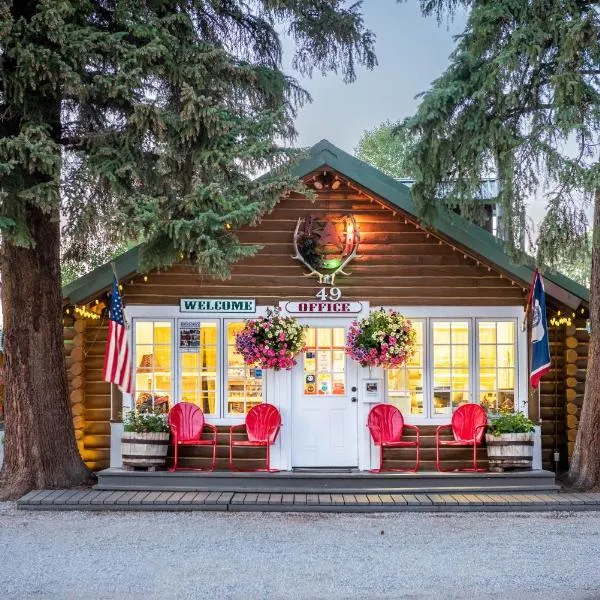
<path fill-rule="evenodd" d="M 304 351 L 303 386 L 307 396 L 346 393 L 345 330 L 309 327 Z"/>

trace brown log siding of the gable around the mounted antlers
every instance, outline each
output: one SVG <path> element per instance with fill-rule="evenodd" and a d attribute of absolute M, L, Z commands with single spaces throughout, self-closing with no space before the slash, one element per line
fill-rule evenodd
<path fill-rule="evenodd" d="M 218 281 L 185 265 L 124 282 L 126 304 L 177 304 L 182 297 L 256 297 L 259 304 L 313 299 L 319 286 L 314 276 L 291 258 L 293 231 L 299 217 L 314 214 L 355 215 L 360 232 L 359 256 L 338 275 L 345 300 L 372 305 L 505 306 L 522 304 L 521 286 L 499 273 L 477 266 L 459 250 L 439 244 L 422 229 L 394 216 L 357 193 L 334 193 L 315 203 L 294 195 L 283 199 L 256 228 L 244 228 L 240 240 L 261 250 L 233 266 L 231 278 Z"/>

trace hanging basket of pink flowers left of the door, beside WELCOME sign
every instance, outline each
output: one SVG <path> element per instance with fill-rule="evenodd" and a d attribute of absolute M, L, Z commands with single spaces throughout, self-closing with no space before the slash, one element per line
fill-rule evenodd
<path fill-rule="evenodd" d="M 293 317 L 282 317 L 278 308 L 266 317 L 248 319 L 235 337 L 235 350 L 247 365 L 263 369 L 291 369 L 294 357 L 304 349 L 306 325 Z"/>

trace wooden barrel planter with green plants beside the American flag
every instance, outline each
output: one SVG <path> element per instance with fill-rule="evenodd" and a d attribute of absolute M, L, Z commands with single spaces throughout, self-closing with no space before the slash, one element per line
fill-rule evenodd
<path fill-rule="evenodd" d="M 121 435 L 123 466 L 150 469 L 164 466 L 169 435 L 167 415 L 157 409 L 127 413 Z"/>

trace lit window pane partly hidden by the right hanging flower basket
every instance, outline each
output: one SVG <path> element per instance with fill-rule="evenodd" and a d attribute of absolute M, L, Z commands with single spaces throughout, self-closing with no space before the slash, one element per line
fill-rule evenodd
<path fill-rule="evenodd" d="M 423 407 L 423 321 L 413 321 L 417 333 L 414 356 L 406 365 L 388 369 L 388 401 L 403 414 L 422 415 Z M 448 354 L 449 357 L 449 354 Z M 442 360 L 440 362 L 443 362 Z"/>

